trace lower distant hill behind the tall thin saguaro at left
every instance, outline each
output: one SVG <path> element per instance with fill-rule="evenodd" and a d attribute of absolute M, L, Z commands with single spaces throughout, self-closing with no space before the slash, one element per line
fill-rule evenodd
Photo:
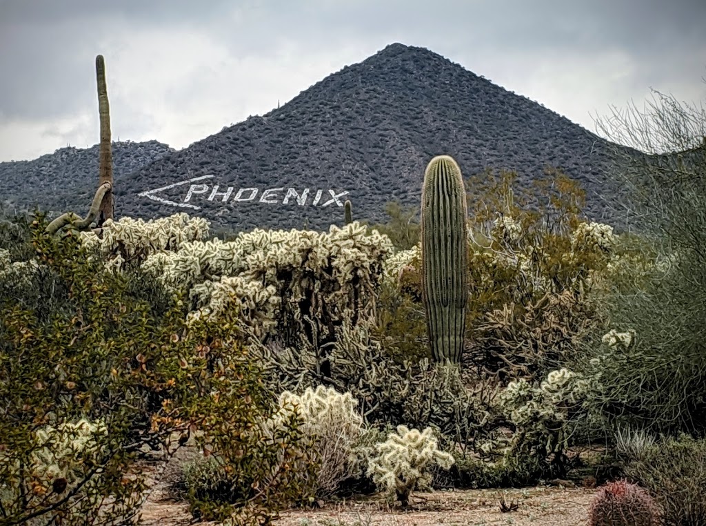
<path fill-rule="evenodd" d="M 114 142 L 113 177 L 117 186 L 125 175 L 173 152 L 157 141 Z M 0 163 L 0 209 L 85 214 L 98 183 L 98 146 L 60 148 L 35 160 Z"/>

